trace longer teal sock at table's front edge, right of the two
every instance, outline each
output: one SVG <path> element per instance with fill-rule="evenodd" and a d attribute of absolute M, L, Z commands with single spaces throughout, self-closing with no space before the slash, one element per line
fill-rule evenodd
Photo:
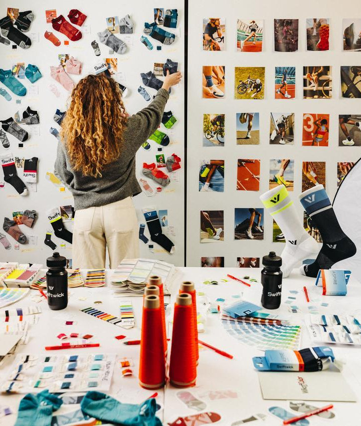
<path fill-rule="evenodd" d="M 154 398 L 146 399 L 140 404 L 124 404 L 105 393 L 90 391 L 86 393 L 80 406 L 85 414 L 105 422 L 131 426 L 161 426 L 161 421 L 155 416 Z"/>

